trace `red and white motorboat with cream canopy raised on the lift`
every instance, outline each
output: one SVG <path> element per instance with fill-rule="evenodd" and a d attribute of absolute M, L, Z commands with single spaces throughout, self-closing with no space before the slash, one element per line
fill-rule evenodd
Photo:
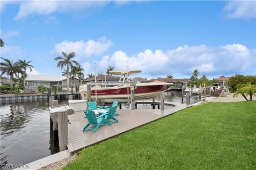
<path fill-rule="evenodd" d="M 130 84 L 134 84 L 134 98 L 135 99 L 147 99 L 162 95 L 173 83 L 157 82 L 157 83 L 136 83 L 129 82 L 129 75 L 134 73 L 140 73 L 140 70 L 134 71 L 110 71 L 113 75 L 121 75 L 117 86 L 114 87 L 100 87 L 96 84 L 91 89 L 91 97 L 97 99 L 127 99 L 130 98 L 131 88 Z M 107 83 L 107 82 L 106 82 Z M 102 83 L 101 83 L 102 84 Z M 79 87 L 82 99 L 86 99 L 87 85 L 82 84 Z"/>

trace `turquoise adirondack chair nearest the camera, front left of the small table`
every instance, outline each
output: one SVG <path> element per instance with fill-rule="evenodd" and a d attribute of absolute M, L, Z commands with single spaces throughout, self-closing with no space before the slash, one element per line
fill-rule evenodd
<path fill-rule="evenodd" d="M 95 133 L 100 128 L 100 126 L 104 123 L 104 116 L 106 116 L 106 113 L 105 113 L 97 117 L 95 115 L 95 112 L 90 110 L 84 111 L 84 114 L 87 120 L 89 121 L 89 123 L 84 127 L 83 131 L 87 129 L 87 130 L 92 130 L 93 133 Z M 95 128 L 89 128 L 90 125 L 94 125 Z"/>

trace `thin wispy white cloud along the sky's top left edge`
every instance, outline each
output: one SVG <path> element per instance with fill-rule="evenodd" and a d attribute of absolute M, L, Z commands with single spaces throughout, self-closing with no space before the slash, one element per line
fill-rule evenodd
<path fill-rule="evenodd" d="M 116 5 L 121 6 L 130 3 L 141 3 L 146 1 L 1 1 L 1 11 L 7 4 L 19 4 L 19 12 L 15 16 L 15 20 L 21 20 L 29 15 L 49 15 L 54 12 L 61 13 L 77 13 L 83 16 L 88 15 L 89 10 L 99 9 L 103 6 L 114 2 Z M 82 13 L 81 13 L 82 12 Z"/>

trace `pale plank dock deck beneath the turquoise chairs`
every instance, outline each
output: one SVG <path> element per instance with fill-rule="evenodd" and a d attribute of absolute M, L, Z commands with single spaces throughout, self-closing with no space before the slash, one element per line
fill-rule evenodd
<path fill-rule="evenodd" d="M 100 141 L 114 137 L 123 132 L 137 128 L 143 124 L 158 120 L 164 116 L 173 114 L 186 108 L 186 104 L 166 102 L 171 106 L 165 106 L 165 109 L 152 109 L 150 106 L 142 109 L 117 109 L 119 116 L 116 116 L 119 123 L 113 123 L 111 126 L 101 126 L 97 132 L 84 131 L 84 126 L 88 123 L 84 118 L 84 113 L 75 112 L 69 115 L 68 119 L 71 124 L 68 125 L 68 150 L 69 152 L 79 151 L 87 146 L 93 145 Z"/>

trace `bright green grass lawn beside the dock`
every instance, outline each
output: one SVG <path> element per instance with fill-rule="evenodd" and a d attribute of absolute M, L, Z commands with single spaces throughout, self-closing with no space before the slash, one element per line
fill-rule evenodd
<path fill-rule="evenodd" d="M 63 169 L 256 169 L 256 102 L 187 108 L 87 147 Z"/>

